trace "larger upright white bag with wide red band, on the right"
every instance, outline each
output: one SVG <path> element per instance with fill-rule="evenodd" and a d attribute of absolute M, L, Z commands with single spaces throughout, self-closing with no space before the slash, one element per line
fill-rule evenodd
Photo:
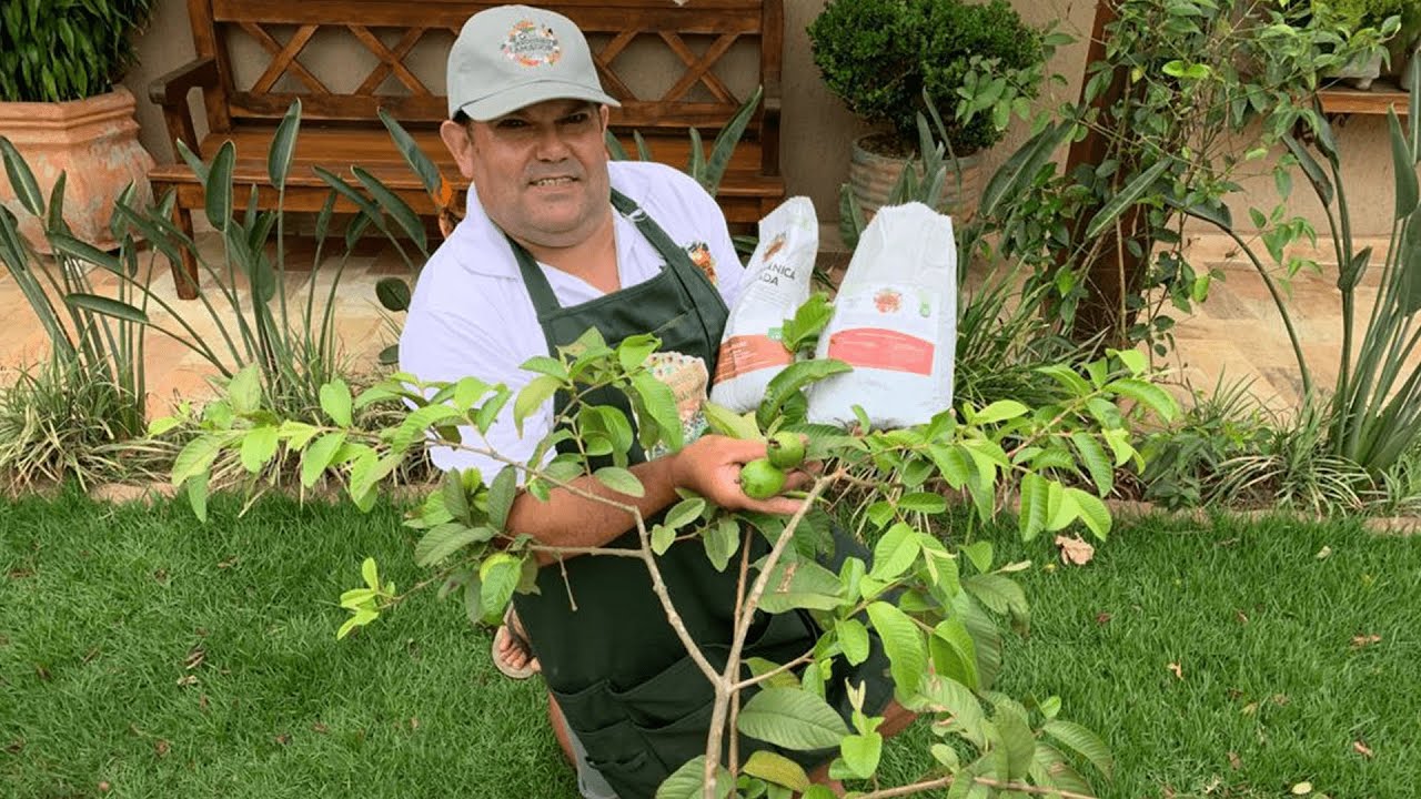
<path fill-rule="evenodd" d="M 922 203 L 881 209 L 864 230 L 820 336 L 817 358 L 854 371 L 809 391 L 811 422 L 926 424 L 952 405 L 958 253 L 952 219 Z"/>

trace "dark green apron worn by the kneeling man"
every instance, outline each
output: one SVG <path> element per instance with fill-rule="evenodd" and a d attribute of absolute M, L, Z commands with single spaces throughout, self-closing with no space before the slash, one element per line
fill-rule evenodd
<path fill-rule="evenodd" d="M 533 256 L 509 239 L 549 353 L 556 357 L 558 347 L 571 344 L 590 327 L 597 327 L 611 345 L 649 331 L 661 338 L 662 351 L 699 357 L 708 374 L 715 374 L 728 317 L 720 293 L 632 200 L 614 191 L 612 206 L 637 225 L 665 264 L 644 283 L 578 306 L 561 307 Z M 627 400 L 617 391 L 604 391 L 588 401 L 615 405 L 631 419 Z M 554 400 L 558 412 L 566 404 L 563 395 Z M 639 446 L 631 456 L 632 462 L 645 459 Z M 648 519 L 648 527 L 655 522 L 657 518 Z M 767 550 L 763 539 L 755 540 L 762 552 Z M 635 527 L 607 546 L 638 547 Z M 712 665 L 723 668 L 737 570 L 716 572 L 695 540 L 672 545 L 658 566 L 691 637 Z M 573 557 L 560 567 L 541 569 L 537 587 L 536 594 L 516 596 L 514 604 L 543 678 L 585 746 L 588 762 L 620 798 L 652 796 L 671 772 L 705 752 L 713 699 L 710 682 L 666 621 L 641 560 Z M 786 663 L 809 650 L 817 637 L 818 628 L 806 613 L 762 614 L 746 638 L 743 657 Z M 872 692 L 877 695 L 865 709 L 881 707 L 891 688 Z M 745 739 L 742 756 L 756 748 L 764 745 Z"/>

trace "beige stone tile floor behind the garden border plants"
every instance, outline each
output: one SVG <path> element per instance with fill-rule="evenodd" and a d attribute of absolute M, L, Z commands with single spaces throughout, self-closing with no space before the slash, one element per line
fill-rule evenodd
<path fill-rule="evenodd" d="M 205 235 L 200 243 L 210 262 L 220 263 L 220 239 Z M 1385 252 L 1385 242 L 1378 243 L 1378 252 Z M 1222 237 L 1194 242 L 1195 263 L 1218 266 L 1226 277 L 1215 283 L 1209 300 L 1195 316 L 1179 321 L 1175 328 L 1177 351 L 1162 363 L 1175 370 L 1172 380 L 1181 394 L 1187 385 L 1211 390 L 1221 377 L 1226 381 L 1252 380 L 1252 391 L 1259 400 L 1286 409 L 1296 405 L 1300 392 L 1296 360 L 1262 280 L 1228 245 Z M 340 263 L 338 257 L 325 257 L 321 269 L 313 272 L 314 254 L 310 240 L 296 239 L 288 247 L 286 289 L 293 313 L 298 313 L 297 306 L 304 306 L 313 280 L 317 306 L 324 303 Z M 1287 304 L 1299 324 L 1316 384 L 1330 387 L 1341 354 L 1341 307 L 1334 286 L 1336 269 L 1326 263 L 1326 250 L 1317 257 L 1323 262 L 1322 274 L 1297 276 L 1290 284 Z M 145 256 L 144 260 L 149 259 Z M 176 299 L 166 260 L 152 259 L 149 269 L 153 300 L 148 310 L 152 320 L 180 330 L 173 314 L 159 307 L 161 300 L 209 343 L 220 341 L 217 324 L 200 301 Z M 112 274 L 101 269 L 88 274 L 95 291 L 112 296 L 117 286 Z M 389 274 L 408 276 L 409 270 L 392 247 L 371 243 L 350 256 L 340 277 L 335 328 L 342 355 L 357 370 L 374 371 L 378 353 L 396 340 L 395 320 L 375 300 L 375 284 Z M 203 274 L 202 284 L 210 289 L 216 279 Z M 236 284 L 244 287 L 240 277 Z M 1376 296 L 1374 283 L 1364 284 L 1358 293 L 1360 316 L 1364 318 Z M 239 297 L 246 306 L 244 289 L 239 290 Z M 234 321 L 230 309 L 220 318 L 229 328 Z M 40 363 L 48 348 L 45 333 L 9 273 L 0 274 L 0 330 L 6 331 L 0 337 L 0 382 L 7 382 L 14 380 L 17 370 Z M 152 414 L 162 414 L 178 397 L 196 400 L 210 391 L 207 378 L 213 374 L 212 367 L 202 355 L 166 336 L 148 336 L 145 363 Z"/>

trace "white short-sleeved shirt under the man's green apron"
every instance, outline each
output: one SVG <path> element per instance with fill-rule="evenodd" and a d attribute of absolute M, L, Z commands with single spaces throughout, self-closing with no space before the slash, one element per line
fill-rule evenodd
<path fill-rule="evenodd" d="M 745 267 L 715 199 L 692 178 L 662 163 L 614 161 L 608 172 L 612 188 L 635 200 L 672 242 L 688 252 L 709 254 L 720 296 L 726 306 L 733 304 Z M 632 222 L 615 210 L 612 216 L 621 287 L 655 277 L 664 259 Z M 580 277 L 540 266 L 563 307 L 604 296 Z M 490 385 L 503 382 L 516 397 L 536 377 L 519 367 L 536 355 L 549 355 L 547 338 L 513 250 L 479 206 L 475 192 L 469 192 L 463 222 L 419 274 L 399 337 L 401 371 L 426 382 L 455 382 L 465 377 Z M 553 402 L 549 401 L 540 412 L 524 419 L 519 436 L 510 401 L 489 428 L 487 438 L 475 428 L 463 428 L 463 442 L 527 462 L 551 425 Z M 485 482 L 492 482 L 503 468 L 493 458 L 465 449 L 436 448 L 431 456 L 441 469 L 476 468 Z"/>

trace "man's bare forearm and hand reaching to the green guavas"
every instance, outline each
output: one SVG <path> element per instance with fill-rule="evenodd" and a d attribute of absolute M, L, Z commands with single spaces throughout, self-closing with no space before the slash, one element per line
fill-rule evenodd
<path fill-rule="evenodd" d="M 622 505 L 634 505 L 641 512 L 642 519 L 675 503 L 679 499 L 678 488 L 693 490 L 732 510 L 783 515 L 799 510 L 800 500 L 797 499 L 777 496 L 756 500 L 740 490 L 737 481 L 740 465 L 756 458 L 764 458 L 763 441 L 706 435 L 674 455 L 632 466 L 631 472 L 647 489 L 641 498 L 611 490 L 593 476 L 578 478 L 571 485 L 583 492 Z M 787 485 L 799 488 L 807 479 L 809 475 L 794 472 Z M 604 502 L 578 496 L 564 488 L 553 489 L 547 502 L 526 492 L 520 493 L 513 502 L 507 520 L 510 533 L 529 535 L 550 547 L 605 546 L 635 525 L 631 513 Z M 540 560 L 547 564 L 557 560 L 557 556 L 540 553 Z"/>

